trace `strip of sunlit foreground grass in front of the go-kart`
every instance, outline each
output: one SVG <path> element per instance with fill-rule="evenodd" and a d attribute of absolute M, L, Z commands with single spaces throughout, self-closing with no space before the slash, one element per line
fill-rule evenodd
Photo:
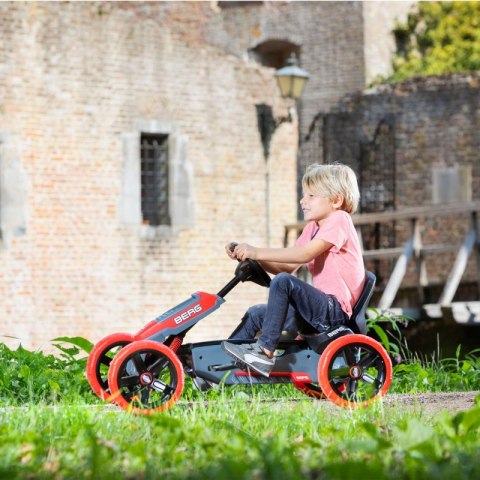
<path fill-rule="evenodd" d="M 0 478 L 470 480 L 479 426 L 478 404 L 434 418 L 225 398 L 152 417 L 34 405 L 0 410 Z"/>

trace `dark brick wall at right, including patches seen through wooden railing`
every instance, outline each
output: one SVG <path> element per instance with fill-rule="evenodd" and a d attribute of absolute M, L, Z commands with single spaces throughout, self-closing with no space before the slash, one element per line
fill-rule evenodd
<path fill-rule="evenodd" d="M 391 156 L 385 159 L 385 166 L 394 172 L 392 208 L 429 206 L 438 198 L 459 202 L 480 200 L 479 73 L 411 79 L 345 97 L 323 117 L 324 136 L 320 141 L 323 161 L 342 161 L 355 168 L 360 176 L 368 175 L 360 163 L 362 149 L 375 143 L 379 126 L 380 130 L 388 129 L 387 142 L 392 147 Z M 381 151 L 381 141 L 378 137 L 376 141 L 377 151 Z M 465 173 L 460 180 L 461 188 L 467 191 L 458 192 L 458 198 L 434 191 L 436 173 L 445 171 Z M 376 185 L 377 192 L 382 190 L 378 188 L 382 181 L 380 178 Z M 361 193 L 364 197 L 369 194 L 366 190 Z M 396 244 L 402 245 L 410 234 L 408 222 L 395 228 Z M 460 244 L 468 228 L 468 216 L 432 219 L 424 225 L 423 241 Z M 454 258 L 455 252 L 429 256 L 429 280 L 444 283 Z M 412 265 L 411 278 L 414 278 L 413 268 Z M 473 256 L 465 279 L 475 276 Z"/>

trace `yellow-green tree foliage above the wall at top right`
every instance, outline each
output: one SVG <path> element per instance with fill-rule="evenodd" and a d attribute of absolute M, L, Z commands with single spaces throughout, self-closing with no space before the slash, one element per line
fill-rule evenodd
<path fill-rule="evenodd" d="M 480 70 L 480 2 L 419 2 L 393 33 L 387 81 Z"/>

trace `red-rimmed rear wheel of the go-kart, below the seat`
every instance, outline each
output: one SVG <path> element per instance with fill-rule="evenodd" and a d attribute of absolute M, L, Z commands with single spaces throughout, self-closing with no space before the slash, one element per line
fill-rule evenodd
<path fill-rule="evenodd" d="M 318 383 L 342 407 L 365 406 L 385 395 L 392 362 L 380 343 L 365 335 L 345 335 L 330 343 L 318 362 Z"/>

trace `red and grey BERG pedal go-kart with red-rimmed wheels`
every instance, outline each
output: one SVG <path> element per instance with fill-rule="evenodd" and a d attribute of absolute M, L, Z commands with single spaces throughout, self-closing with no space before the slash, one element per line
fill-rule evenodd
<path fill-rule="evenodd" d="M 268 287 L 270 276 L 254 260 L 239 262 L 233 279 L 217 294 L 195 292 L 136 334 L 114 333 L 100 340 L 87 361 L 93 391 L 141 414 L 172 407 L 182 394 L 185 374 L 201 390 L 220 382 L 291 383 L 310 397 L 327 398 L 343 407 L 367 405 L 387 392 L 392 379 L 390 357 L 380 343 L 365 335 L 365 313 L 375 286 L 375 276 L 368 271 L 349 324 L 323 333 L 300 330 L 296 338 L 281 340 L 269 377 L 236 363 L 221 347 L 223 340 L 183 344 L 185 334 L 246 281 Z"/>

